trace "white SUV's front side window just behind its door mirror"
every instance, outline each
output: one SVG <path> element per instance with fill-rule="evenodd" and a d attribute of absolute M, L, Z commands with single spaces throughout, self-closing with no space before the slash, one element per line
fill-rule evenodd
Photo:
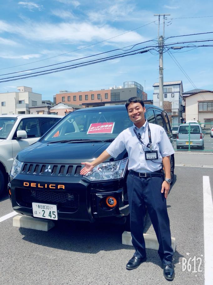
<path fill-rule="evenodd" d="M 38 118 L 22 119 L 17 130 L 26 131 L 28 138 L 39 138 L 41 136 Z"/>

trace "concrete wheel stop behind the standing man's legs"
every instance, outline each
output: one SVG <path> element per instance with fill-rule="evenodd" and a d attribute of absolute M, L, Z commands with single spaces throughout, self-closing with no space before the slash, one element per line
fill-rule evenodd
<path fill-rule="evenodd" d="M 146 248 L 148 249 L 156 249 L 158 250 L 159 244 L 156 235 L 144 233 L 143 234 Z M 131 232 L 124 231 L 122 233 L 122 244 L 132 245 L 132 237 Z M 172 238 L 172 249 L 175 251 L 176 248 L 176 241 L 175 238 Z"/>

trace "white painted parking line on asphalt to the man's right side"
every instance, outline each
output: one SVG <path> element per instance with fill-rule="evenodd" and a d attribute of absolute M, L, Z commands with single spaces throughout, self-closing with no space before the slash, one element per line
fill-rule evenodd
<path fill-rule="evenodd" d="M 212 284 L 213 272 L 213 204 L 209 176 L 203 176 L 203 218 L 204 218 L 204 257 L 205 285 Z"/>

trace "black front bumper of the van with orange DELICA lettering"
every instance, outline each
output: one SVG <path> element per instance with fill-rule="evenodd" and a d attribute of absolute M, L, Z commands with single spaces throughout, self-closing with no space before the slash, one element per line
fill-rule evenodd
<path fill-rule="evenodd" d="M 101 217 L 129 214 L 124 179 L 90 182 L 83 177 L 62 178 L 18 174 L 10 181 L 13 209 L 33 216 L 32 202 L 57 205 L 58 219 L 94 222 Z M 9 189 L 9 188 L 8 188 Z M 117 205 L 108 207 L 112 196 Z"/>

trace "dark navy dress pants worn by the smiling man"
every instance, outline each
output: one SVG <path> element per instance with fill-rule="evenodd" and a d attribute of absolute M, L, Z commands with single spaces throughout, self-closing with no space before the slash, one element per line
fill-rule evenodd
<path fill-rule="evenodd" d="M 134 173 L 127 176 L 127 194 L 130 211 L 132 244 L 136 257 L 145 257 L 146 248 L 143 238 L 145 206 L 153 224 L 159 249 L 158 254 L 164 265 L 172 262 L 174 254 L 171 246 L 171 233 L 166 199 L 161 193 L 162 177 L 138 177 Z"/>

